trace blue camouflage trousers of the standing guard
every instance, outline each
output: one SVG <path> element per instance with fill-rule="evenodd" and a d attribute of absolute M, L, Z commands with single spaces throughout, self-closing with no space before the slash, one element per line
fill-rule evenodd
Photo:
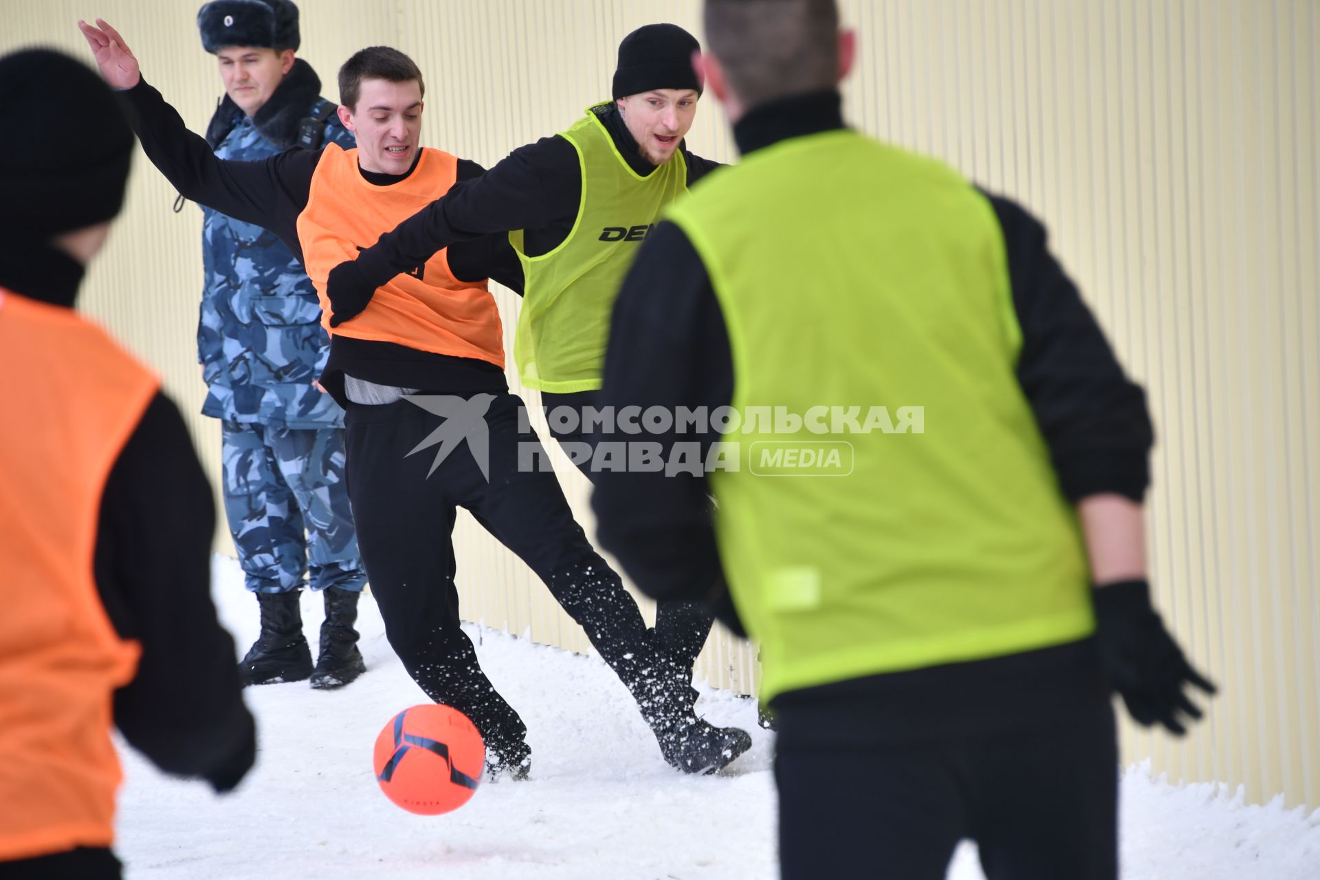
<path fill-rule="evenodd" d="M 343 482 L 343 429 L 222 422 L 224 515 L 253 592 L 362 590 Z"/>

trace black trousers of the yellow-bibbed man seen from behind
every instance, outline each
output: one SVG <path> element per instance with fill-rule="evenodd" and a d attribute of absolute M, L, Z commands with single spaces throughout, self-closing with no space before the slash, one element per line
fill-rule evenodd
<path fill-rule="evenodd" d="M 1114 880 L 1114 712 L 1090 677 L 1064 689 L 1077 648 L 876 676 L 869 706 L 861 689 L 776 699 L 784 880 L 942 880 L 964 838 L 987 880 Z M 902 727 L 921 735 L 890 739 Z"/>

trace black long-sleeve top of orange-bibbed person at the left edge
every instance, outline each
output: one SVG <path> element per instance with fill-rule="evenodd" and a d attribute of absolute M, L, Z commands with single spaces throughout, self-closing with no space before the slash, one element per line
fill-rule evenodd
<path fill-rule="evenodd" d="M 71 309 L 83 269 L 40 247 L 0 249 L 0 286 Z M 21 418 L 21 414 L 15 414 Z M 211 488 L 174 404 L 157 393 L 102 493 L 92 574 L 123 639 L 137 640 L 115 724 L 161 769 L 232 784 L 251 765 L 234 640 L 211 604 Z"/>

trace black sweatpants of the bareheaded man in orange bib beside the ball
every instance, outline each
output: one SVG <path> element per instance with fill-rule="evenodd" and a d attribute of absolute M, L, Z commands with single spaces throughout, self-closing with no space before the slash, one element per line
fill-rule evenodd
<path fill-rule="evenodd" d="M 458 507 L 545 582 L 634 695 L 655 650 L 636 602 L 573 520 L 554 474 L 519 468 L 520 443 L 540 450 L 535 433 L 519 433 L 521 400 L 510 393 L 444 400 L 488 409 L 465 425 L 463 417 L 436 416 L 409 400 L 348 404 L 348 499 L 391 646 L 428 697 L 466 714 L 487 748 L 508 755 L 527 727 L 459 628 L 450 541 Z M 416 449 L 433 434 L 444 438 Z"/>

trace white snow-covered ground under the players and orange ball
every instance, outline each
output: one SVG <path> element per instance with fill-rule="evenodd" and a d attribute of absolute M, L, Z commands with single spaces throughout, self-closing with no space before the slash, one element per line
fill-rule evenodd
<path fill-rule="evenodd" d="M 215 598 L 240 650 L 256 603 L 216 557 Z M 308 633 L 319 598 L 304 595 Z M 482 665 L 529 728 L 532 780 L 483 785 L 461 810 L 417 817 L 380 793 L 371 747 L 401 708 L 425 702 L 385 641 L 370 599 L 359 629 L 368 672 L 339 691 L 306 682 L 247 691 L 257 765 L 239 790 L 161 776 L 125 751 L 120 858 L 131 880 L 755 880 L 775 877 L 774 735 L 751 701 L 702 689 L 698 710 L 752 732 L 725 776 L 678 776 L 627 691 L 598 660 L 471 628 Z M 1142 768 L 1122 786 L 1129 880 L 1315 880 L 1320 811 L 1243 806 L 1222 786 L 1175 788 Z M 883 873 L 878 875 L 883 876 Z M 950 880 L 979 880 L 975 850 Z"/>

